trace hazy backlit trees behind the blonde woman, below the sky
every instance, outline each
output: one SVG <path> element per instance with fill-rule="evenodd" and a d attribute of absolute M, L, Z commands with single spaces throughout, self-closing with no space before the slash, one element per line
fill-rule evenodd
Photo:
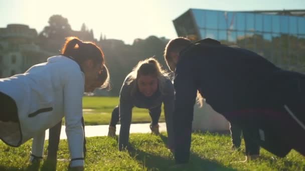
<path fill-rule="evenodd" d="M 79 31 L 72 30 L 68 19 L 58 14 L 52 15 L 48 23 L 49 25 L 38 34 L 38 44 L 43 50 L 52 52 L 54 55 L 59 54 L 65 41 L 63 37 L 67 36 L 77 36 L 85 41 L 93 41 L 102 48 L 111 78 L 112 88 L 109 95 L 119 95 L 125 76 L 139 60 L 155 56 L 167 69 L 163 52 L 169 39 L 165 37 L 151 35 L 145 39 L 135 38 L 129 45 L 122 40 L 107 39 L 102 34 L 99 39 L 96 39 L 93 30 L 88 29 L 85 23 Z"/>

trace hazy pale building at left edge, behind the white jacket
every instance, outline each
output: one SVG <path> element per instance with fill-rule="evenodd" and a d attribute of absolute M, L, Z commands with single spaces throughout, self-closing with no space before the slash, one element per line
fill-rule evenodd
<path fill-rule="evenodd" d="M 0 77 L 25 72 L 34 64 L 45 62 L 50 53 L 36 43 L 37 31 L 24 24 L 0 28 Z"/>

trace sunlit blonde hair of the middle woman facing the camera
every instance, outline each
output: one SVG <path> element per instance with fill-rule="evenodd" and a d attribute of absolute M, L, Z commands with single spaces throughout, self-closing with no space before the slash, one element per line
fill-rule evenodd
<path fill-rule="evenodd" d="M 132 82 L 137 81 L 140 75 L 153 75 L 158 78 L 159 90 L 161 94 L 164 95 L 165 82 L 167 79 L 169 79 L 169 74 L 166 70 L 162 69 L 162 65 L 154 57 L 155 56 L 139 61 L 128 74 L 126 83 L 129 85 Z M 133 87 L 131 89 L 131 95 L 133 95 L 136 90 L 137 83 L 135 82 L 133 83 Z"/>

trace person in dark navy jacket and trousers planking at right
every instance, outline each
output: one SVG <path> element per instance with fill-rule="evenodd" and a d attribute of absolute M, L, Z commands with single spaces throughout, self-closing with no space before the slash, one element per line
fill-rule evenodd
<path fill-rule="evenodd" d="M 176 163 L 189 161 L 197 91 L 271 153 L 283 157 L 295 149 L 305 155 L 305 75 L 211 38 L 195 43 L 173 39 L 166 46 L 165 59 L 172 71 L 176 69 Z"/>

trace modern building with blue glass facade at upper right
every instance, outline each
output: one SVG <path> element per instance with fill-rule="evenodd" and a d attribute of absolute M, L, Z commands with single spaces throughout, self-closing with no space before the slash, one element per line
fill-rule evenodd
<path fill-rule="evenodd" d="M 305 72 L 305 10 L 189 9 L 173 22 L 178 36 L 214 38 L 255 51 L 279 67 Z"/>

